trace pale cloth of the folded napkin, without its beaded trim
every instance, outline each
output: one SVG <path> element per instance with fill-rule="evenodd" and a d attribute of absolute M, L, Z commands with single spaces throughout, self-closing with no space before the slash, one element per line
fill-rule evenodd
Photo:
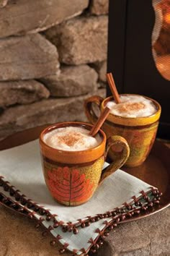
<path fill-rule="evenodd" d="M 37 202 L 38 205 L 49 209 L 51 214 L 57 214 L 56 221 L 71 222 L 75 225 L 79 223 L 77 220 L 80 218 L 84 220 L 86 216 L 106 213 L 114 208 L 121 207 L 124 202 L 132 202 L 134 195 L 135 197 L 140 197 L 141 190 L 144 192 L 151 190 L 151 185 L 130 174 L 126 174 L 124 171 L 117 170 L 115 174 L 109 176 L 102 183 L 86 204 L 76 207 L 60 205 L 53 200 L 45 185 L 37 140 L 1 151 L 0 166 L 0 176 L 4 176 L 4 180 L 19 189 L 27 198 L 31 198 L 32 202 Z M 107 166 L 107 163 L 105 163 L 105 166 Z M 0 187 L 0 192 L 9 197 L 9 192 L 5 192 L 2 187 Z M 36 213 L 35 218 L 40 219 L 42 216 Z M 112 221 L 112 218 L 107 218 L 107 222 L 109 221 Z M 46 228 L 53 226 L 52 221 L 45 221 L 45 218 L 42 224 Z M 96 230 L 102 231 L 105 227 L 106 223 L 102 219 L 91 223 L 85 229 L 81 229 L 79 226 L 78 235 L 68 232 L 63 233 L 61 226 L 57 229 L 52 229 L 50 232 L 53 236 L 58 237 L 61 244 L 65 244 L 67 249 L 76 255 L 81 255 L 82 252 L 89 251 L 91 247 L 89 239 L 94 241 L 99 236 Z"/>

